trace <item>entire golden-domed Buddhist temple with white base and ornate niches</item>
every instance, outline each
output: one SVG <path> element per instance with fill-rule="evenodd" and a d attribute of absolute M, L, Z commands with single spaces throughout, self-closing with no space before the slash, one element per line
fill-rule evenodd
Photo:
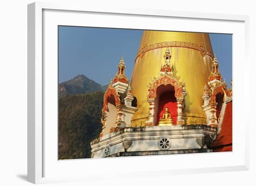
<path fill-rule="evenodd" d="M 144 31 L 104 94 L 92 158 L 232 151 L 231 89 L 208 33 Z"/>

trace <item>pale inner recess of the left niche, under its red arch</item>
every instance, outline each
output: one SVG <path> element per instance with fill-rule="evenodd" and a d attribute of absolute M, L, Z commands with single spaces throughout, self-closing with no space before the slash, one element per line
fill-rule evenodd
<path fill-rule="evenodd" d="M 107 105 L 108 105 L 108 109 L 105 111 L 106 122 L 105 122 L 105 129 L 103 131 L 103 136 L 108 135 L 110 133 L 110 128 L 115 127 L 117 109 L 116 109 L 114 95 L 108 96 Z"/>

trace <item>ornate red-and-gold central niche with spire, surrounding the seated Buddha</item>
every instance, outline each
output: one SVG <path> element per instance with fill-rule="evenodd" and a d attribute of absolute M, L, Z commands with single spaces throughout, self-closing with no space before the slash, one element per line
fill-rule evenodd
<path fill-rule="evenodd" d="M 161 66 L 160 74 L 154 77 L 148 85 L 148 103 L 149 114 L 146 126 L 155 126 L 160 118 L 159 105 L 168 99 L 168 96 L 174 98 L 169 103 L 171 107 L 171 117 L 175 118 L 174 124 L 184 125 L 183 108 L 185 107 L 184 98 L 186 96 L 185 82 L 179 82 L 179 77 L 174 74 L 174 67 L 170 65 L 171 52 L 167 48 L 164 54 L 164 64 Z M 165 94 L 162 100 L 161 96 Z M 162 101 L 162 102 L 161 102 Z M 172 103 L 174 104 L 172 104 Z M 168 103 L 167 103 L 168 104 Z M 165 104 L 166 105 L 166 104 Z M 160 108 L 162 110 L 162 108 Z M 169 108 L 168 108 L 169 109 Z"/>

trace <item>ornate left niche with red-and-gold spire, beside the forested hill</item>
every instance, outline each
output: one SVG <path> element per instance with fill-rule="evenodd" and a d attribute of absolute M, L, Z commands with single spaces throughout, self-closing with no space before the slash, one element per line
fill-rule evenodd
<path fill-rule="evenodd" d="M 100 136 L 103 136 L 103 133 L 110 134 L 121 128 L 130 127 L 130 118 L 137 111 L 136 102 L 133 103 L 133 100 L 136 98 L 133 96 L 132 89 L 128 84 L 128 79 L 124 74 L 125 64 L 123 57 L 121 57 L 117 67 L 118 73 L 114 80 L 111 80 L 108 89 L 104 94 L 101 117 L 102 130 Z M 111 96 L 114 96 L 114 106 L 116 109 L 112 110 L 112 112 L 108 110 L 109 97 Z M 106 128 L 108 129 L 106 130 Z"/>

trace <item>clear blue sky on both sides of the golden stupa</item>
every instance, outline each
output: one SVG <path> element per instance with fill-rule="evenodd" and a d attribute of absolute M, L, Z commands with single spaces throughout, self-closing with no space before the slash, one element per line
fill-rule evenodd
<path fill-rule="evenodd" d="M 115 76 L 123 55 L 131 77 L 142 30 L 59 26 L 59 83 L 84 74 L 102 85 Z M 228 86 L 232 77 L 232 35 L 209 34 L 220 72 Z"/>

